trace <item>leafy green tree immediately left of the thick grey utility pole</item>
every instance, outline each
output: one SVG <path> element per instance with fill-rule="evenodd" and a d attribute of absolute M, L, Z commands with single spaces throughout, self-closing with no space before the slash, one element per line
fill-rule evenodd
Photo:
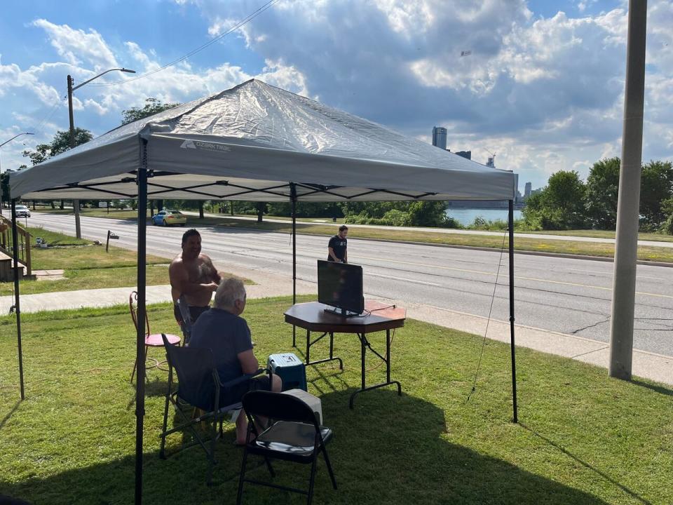
<path fill-rule="evenodd" d="M 599 229 L 615 229 L 619 194 L 619 158 L 605 158 L 592 166 L 587 177 L 587 217 Z"/>

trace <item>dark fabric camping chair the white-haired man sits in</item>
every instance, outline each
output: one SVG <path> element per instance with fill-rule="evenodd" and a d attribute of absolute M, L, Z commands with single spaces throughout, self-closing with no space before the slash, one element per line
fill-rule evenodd
<path fill-rule="evenodd" d="M 170 343 L 167 335 L 162 335 L 163 346 L 166 350 L 166 358 L 168 358 L 168 391 L 166 391 L 166 401 L 163 410 L 163 430 L 161 432 L 161 449 L 159 450 L 159 457 L 166 459 L 168 455 L 165 451 L 166 437 L 171 433 L 177 431 L 189 431 L 193 435 L 193 442 L 182 445 L 179 450 L 173 452 L 180 452 L 193 445 L 200 445 L 205 450 L 208 457 L 208 478 L 207 483 L 212 482 L 212 467 L 215 465 L 215 442 L 222 436 L 222 422 L 229 414 L 233 412 L 237 414 L 240 408 L 240 401 L 231 403 L 230 405 L 219 405 L 220 392 L 224 389 L 231 389 L 233 386 L 238 386 L 243 382 L 250 381 L 253 377 L 261 375 L 267 370 L 260 368 L 257 372 L 252 374 L 242 375 L 229 382 L 222 383 L 219 380 L 217 369 L 215 368 L 215 358 L 212 356 L 212 351 L 205 348 L 180 347 Z M 173 384 L 173 370 L 177 374 L 178 385 L 174 389 Z M 271 370 L 268 370 L 268 375 L 271 376 Z M 272 384 L 271 377 L 269 377 L 269 384 Z M 175 407 L 177 416 L 180 418 L 180 424 L 171 429 L 168 429 L 168 406 L 171 404 Z M 198 415 L 188 417 L 184 410 L 184 405 L 191 405 L 195 409 L 203 412 L 198 412 Z M 234 418 L 232 418 L 233 420 Z M 210 422 L 210 437 L 202 438 L 196 431 L 196 425 L 201 422 Z M 219 423 L 219 432 L 217 431 L 217 424 Z"/>

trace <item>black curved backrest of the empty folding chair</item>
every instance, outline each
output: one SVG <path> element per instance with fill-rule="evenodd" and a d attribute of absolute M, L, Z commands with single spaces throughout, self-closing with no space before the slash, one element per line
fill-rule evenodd
<path fill-rule="evenodd" d="M 276 421 L 303 422 L 318 426 L 315 413 L 296 396 L 271 391 L 250 391 L 243 396 L 243 408 L 250 415 Z"/>

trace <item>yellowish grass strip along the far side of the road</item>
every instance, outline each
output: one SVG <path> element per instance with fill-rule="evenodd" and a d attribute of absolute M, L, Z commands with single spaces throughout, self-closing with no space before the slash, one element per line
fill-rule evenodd
<path fill-rule="evenodd" d="M 93 217 L 107 217 L 104 210 L 100 209 L 86 209 L 88 215 Z M 72 212 L 72 211 L 62 211 Z M 130 210 L 118 211 L 119 219 L 135 220 L 135 215 Z M 122 214 L 125 213 L 125 214 Z M 123 217 L 122 217 L 123 216 Z M 111 211 L 109 217 L 113 217 Z M 290 233 L 292 225 L 290 222 L 268 222 L 261 223 L 241 220 L 241 219 L 223 219 L 222 217 L 205 217 L 200 220 L 198 217 L 189 216 L 187 218 L 187 226 L 189 227 L 226 227 L 226 228 L 245 228 L 255 229 L 260 231 L 277 231 L 280 233 Z M 591 235 L 596 232 L 595 235 Z M 309 235 L 329 236 L 334 235 L 334 226 L 328 224 L 297 224 L 297 233 Z M 527 233 L 527 232 L 526 232 Z M 542 232 L 541 232 L 542 233 Z M 547 233 L 547 232 L 545 232 Z M 567 232 L 554 232 L 555 234 L 566 235 L 581 235 L 581 236 L 607 236 L 613 232 L 596 231 L 596 230 L 574 230 Z M 505 233 L 503 232 L 503 237 Z M 405 230 L 390 230 L 380 228 L 353 228 L 349 234 L 351 238 L 372 238 L 375 240 L 392 240 L 400 242 L 419 242 L 419 243 L 433 243 L 441 245 L 458 245 L 463 247 L 480 247 L 480 248 L 494 248 L 500 249 L 503 246 L 503 237 L 493 235 L 476 235 L 476 234 L 440 234 L 432 231 L 405 231 Z M 660 238 L 653 238 L 660 237 Z M 659 234 L 641 234 L 643 240 L 663 240 L 673 241 L 673 237 L 667 237 Z M 505 242 L 505 246 L 507 243 Z M 559 241 L 559 240 L 545 240 L 543 238 L 515 238 L 515 249 L 520 251 L 534 251 L 538 253 L 556 253 L 556 254 L 571 254 L 580 256 L 598 256 L 598 257 L 613 257 L 615 254 L 615 246 L 611 243 L 592 243 L 579 241 Z M 639 260 L 658 261 L 658 262 L 673 262 L 673 249 L 661 248 L 652 246 L 640 246 L 638 248 Z"/>

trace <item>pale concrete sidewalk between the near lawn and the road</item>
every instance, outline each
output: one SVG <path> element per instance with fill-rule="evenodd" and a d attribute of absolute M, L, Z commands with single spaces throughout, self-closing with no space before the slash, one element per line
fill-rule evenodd
<path fill-rule="evenodd" d="M 246 286 L 247 296 L 251 299 L 292 295 L 292 278 L 248 269 L 236 269 L 236 271 L 232 271 L 231 273 L 252 279 L 256 283 Z M 80 309 L 82 307 L 111 307 L 118 304 L 127 304 L 128 295 L 134 289 L 107 288 L 23 295 L 21 297 L 21 311 L 22 313 L 26 313 Z M 297 294 L 299 295 L 315 295 L 316 290 L 317 288 L 314 283 L 297 281 Z M 407 316 L 419 321 L 426 321 L 427 323 L 475 335 L 484 335 L 484 331 L 487 328 L 487 318 L 481 316 L 451 311 L 426 304 L 410 304 L 404 300 L 376 298 L 384 302 L 406 307 Z M 147 286 L 147 303 L 170 301 L 169 285 Z M 0 314 L 8 314 L 9 307 L 13 305 L 13 302 L 14 300 L 11 296 L 0 297 Z M 603 368 L 607 368 L 608 366 L 609 346 L 606 342 L 531 328 L 524 325 L 517 325 L 516 329 L 517 346 L 576 359 Z M 488 323 L 487 336 L 489 339 L 499 342 L 510 342 L 509 323 L 507 321 L 491 319 L 490 323 Z M 400 338 L 404 337 L 400 335 Z M 647 351 L 634 350 L 633 373 L 639 377 L 673 385 L 673 356 L 662 356 Z"/>

